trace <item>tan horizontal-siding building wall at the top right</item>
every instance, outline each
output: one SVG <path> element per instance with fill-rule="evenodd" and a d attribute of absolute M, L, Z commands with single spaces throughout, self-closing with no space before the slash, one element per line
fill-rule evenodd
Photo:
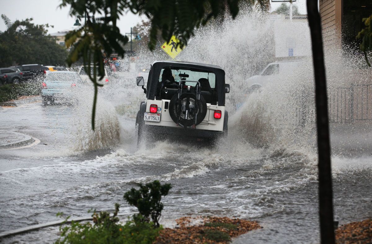
<path fill-rule="evenodd" d="M 341 46 L 342 0 L 319 0 L 324 46 Z"/>

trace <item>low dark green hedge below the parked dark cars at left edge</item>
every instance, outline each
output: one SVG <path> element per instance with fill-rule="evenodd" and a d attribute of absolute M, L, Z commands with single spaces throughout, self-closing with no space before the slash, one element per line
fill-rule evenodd
<path fill-rule="evenodd" d="M 41 94 L 40 82 L 0 85 L 0 102 L 18 99 L 21 96 Z"/>

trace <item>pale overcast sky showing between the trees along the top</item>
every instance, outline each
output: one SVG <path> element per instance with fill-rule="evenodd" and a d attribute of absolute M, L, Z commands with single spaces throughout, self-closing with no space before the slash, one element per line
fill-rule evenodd
<path fill-rule="evenodd" d="M 70 29 L 76 18 L 68 15 L 69 8 L 60 9 L 58 5 L 61 0 L 0 0 L 0 14 L 5 14 L 13 22 L 16 19 L 22 20 L 33 18 L 35 24 L 53 25 L 54 28 L 49 28 L 49 33 L 58 32 L 65 29 Z M 279 7 L 281 3 L 272 3 L 272 11 Z M 297 0 L 295 5 L 298 6 L 300 13 L 306 13 L 306 0 Z M 141 21 L 142 17 L 127 13 L 122 16 L 118 22 L 121 32 L 130 32 L 130 27 L 135 26 Z M 3 20 L 0 20 L 0 30 L 4 31 L 6 26 Z"/>

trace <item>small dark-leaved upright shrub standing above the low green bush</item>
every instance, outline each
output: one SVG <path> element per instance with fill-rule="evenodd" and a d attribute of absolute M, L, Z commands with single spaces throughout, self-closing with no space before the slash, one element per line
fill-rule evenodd
<path fill-rule="evenodd" d="M 159 227 L 161 211 L 164 208 L 164 205 L 160 202 L 161 196 L 168 195 L 171 185 L 161 185 L 158 180 L 154 180 L 145 185 L 140 183 L 138 186 L 140 186 L 140 189 L 136 190 L 132 188 L 130 191 L 126 192 L 124 194 L 124 199 L 129 205 L 138 208 L 138 212 L 144 217 L 145 222 L 150 222 L 151 217 L 154 226 Z"/>

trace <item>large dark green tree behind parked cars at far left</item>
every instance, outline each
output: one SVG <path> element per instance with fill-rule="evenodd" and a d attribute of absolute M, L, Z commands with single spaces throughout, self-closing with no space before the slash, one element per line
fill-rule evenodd
<path fill-rule="evenodd" d="M 46 25 L 35 25 L 32 19 L 11 22 L 1 14 L 7 29 L 0 32 L 0 67 L 13 64 L 64 65 L 67 51 L 47 35 Z"/>

